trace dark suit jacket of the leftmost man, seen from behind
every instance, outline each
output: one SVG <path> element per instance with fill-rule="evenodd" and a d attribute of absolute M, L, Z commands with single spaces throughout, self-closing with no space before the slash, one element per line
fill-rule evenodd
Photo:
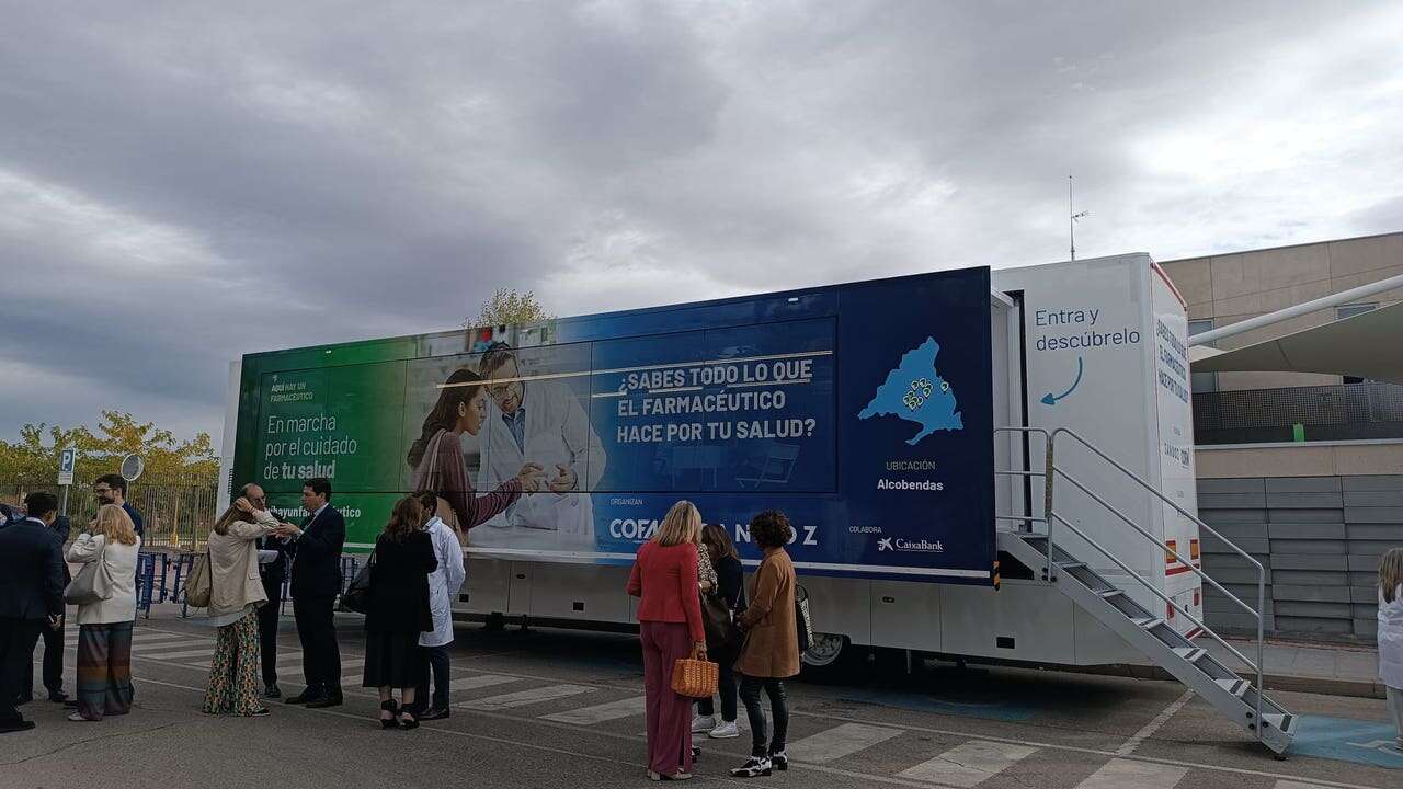
<path fill-rule="evenodd" d="M 0 618 L 63 614 L 63 541 L 39 521 L 0 529 Z"/>

